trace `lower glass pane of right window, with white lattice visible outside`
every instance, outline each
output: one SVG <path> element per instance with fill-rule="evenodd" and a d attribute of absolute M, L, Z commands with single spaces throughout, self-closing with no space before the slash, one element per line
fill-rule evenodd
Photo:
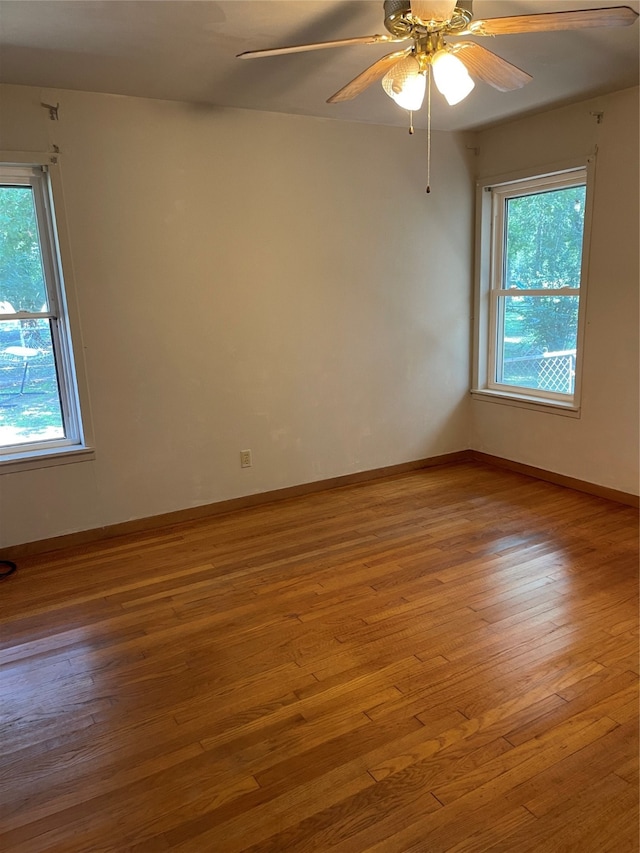
<path fill-rule="evenodd" d="M 573 394 L 578 296 L 505 296 L 500 300 L 502 358 L 496 380 Z"/>

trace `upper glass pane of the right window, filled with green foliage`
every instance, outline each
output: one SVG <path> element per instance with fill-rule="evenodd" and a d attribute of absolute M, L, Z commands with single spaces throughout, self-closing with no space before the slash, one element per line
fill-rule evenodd
<path fill-rule="evenodd" d="M 503 288 L 580 287 L 586 188 L 507 200 Z"/>

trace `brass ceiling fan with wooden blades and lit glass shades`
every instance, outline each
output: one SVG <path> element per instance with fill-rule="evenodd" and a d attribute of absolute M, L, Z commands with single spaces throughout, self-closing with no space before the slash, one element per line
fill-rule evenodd
<path fill-rule="evenodd" d="M 407 110 L 418 110 L 424 99 L 428 72 L 450 105 L 463 100 L 474 87 L 472 77 L 507 92 L 519 89 L 531 75 L 473 41 L 448 43 L 447 36 L 497 36 L 510 33 L 579 30 L 590 27 L 624 27 L 638 14 L 629 6 L 542 12 L 504 18 L 473 20 L 472 0 L 384 0 L 384 25 L 390 35 L 357 36 L 335 41 L 297 44 L 238 54 L 242 59 L 300 53 L 359 44 L 411 41 L 386 54 L 328 98 L 347 101 L 382 79 L 385 92 Z M 429 79 L 431 74 L 429 74 Z"/>

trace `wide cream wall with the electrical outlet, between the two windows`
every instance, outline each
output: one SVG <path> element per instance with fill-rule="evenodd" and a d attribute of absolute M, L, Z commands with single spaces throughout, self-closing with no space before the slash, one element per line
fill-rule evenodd
<path fill-rule="evenodd" d="M 423 133 L 0 98 L 0 149 L 61 150 L 96 447 L 0 475 L 0 545 L 469 446 L 461 136 L 434 134 L 426 195 Z"/>

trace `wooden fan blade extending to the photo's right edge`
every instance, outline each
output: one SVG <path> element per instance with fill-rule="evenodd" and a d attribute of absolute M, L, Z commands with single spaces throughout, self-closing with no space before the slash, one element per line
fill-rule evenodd
<path fill-rule="evenodd" d="M 609 9 L 583 9 L 578 12 L 542 12 L 539 15 L 515 15 L 473 21 L 456 35 L 501 36 L 509 33 L 540 33 L 552 30 L 582 30 L 589 27 L 628 27 L 638 13 L 630 6 Z"/>

